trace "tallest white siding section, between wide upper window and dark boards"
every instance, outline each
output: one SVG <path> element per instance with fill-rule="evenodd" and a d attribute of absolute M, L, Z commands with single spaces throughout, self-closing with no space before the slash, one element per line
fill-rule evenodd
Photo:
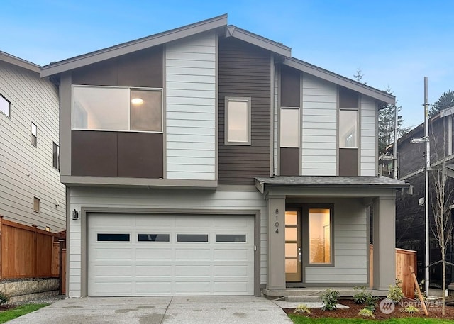
<path fill-rule="evenodd" d="M 214 30 L 167 44 L 167 179 L 216 178 Z"/>

